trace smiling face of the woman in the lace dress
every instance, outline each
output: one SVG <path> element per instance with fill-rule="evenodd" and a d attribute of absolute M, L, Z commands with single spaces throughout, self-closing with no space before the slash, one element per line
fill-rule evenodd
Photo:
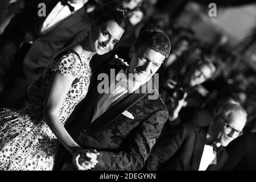
<path fill-rule="evenodd" d="M 90 44 L 93 51 L 98 55 L 104 55 L 111 51 L 125 32 L 125 30 L 113 20 L 93 26 L 91 31 Z"/>

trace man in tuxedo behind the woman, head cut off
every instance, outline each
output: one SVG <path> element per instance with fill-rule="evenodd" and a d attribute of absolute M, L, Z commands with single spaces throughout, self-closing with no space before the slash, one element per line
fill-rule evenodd
<path fill-rule="evenodd" d="M 52 57 L 80 32 L 89 30 L 86 2 L 30 1 L 11 20 L 0 37 L 0 107 L 18 108 L 28 85 L 43 73 Z"/>

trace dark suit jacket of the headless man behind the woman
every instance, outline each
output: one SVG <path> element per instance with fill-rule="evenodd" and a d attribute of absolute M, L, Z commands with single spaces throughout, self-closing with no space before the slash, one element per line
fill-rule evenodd
<path fill-rule="evenodd" d="M 33 0 L 26 3 L 21 13 L 17 14 L 0 37 L 0 79 L 2 76 L 18 75 L 23 80 L 10 80 L 7 92 L 2 96 L 2 102 L 14 90 L 22 90 L 26 94 L 27 86 L 37 77 L 42 75 L 49 61 L 61 49 L 69 46 L 72 40 L 81 32 L 90 28 L 90 18 L 85 7 L 77 10 L 72 15 L 56 23 L 46 32 L 40 32 L 44 20 L 56 6 L 57 0 Z M 39 16 L 39 3 L 45 3 L 46 16 Z M 23 46 L 22 42 L 31 42 L 31 46 Z M 20 84 L 20 86 L 19 86 Z M 15 88 L 15 86 L 17 86 Z M 15 98 L 11 98 L 11 102 Z M 6 101 L 9 102 L 9 101 Z M 7 103 L 7 106 L 8 103 Z M 11 106 L 11 105 L 10 105 Z"/>

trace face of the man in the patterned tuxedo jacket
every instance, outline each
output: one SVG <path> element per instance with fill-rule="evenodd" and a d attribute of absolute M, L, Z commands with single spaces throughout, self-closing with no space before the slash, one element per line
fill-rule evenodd
<path fill-rule="evenodd" d="M 160 68 L 166 56 L 156 52 L 147 46 L 134 50 L 131 49 L 131 63 L 128 73 L 133 73 L 135 81 L 143 82 L 149 80 Z"/>

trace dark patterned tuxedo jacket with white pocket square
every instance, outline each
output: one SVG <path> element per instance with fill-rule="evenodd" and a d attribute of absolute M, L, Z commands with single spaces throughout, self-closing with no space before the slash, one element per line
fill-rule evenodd
<path fill-rule="evenodd" d="M 98 73 L 107 73 L 111 67 L 102 65 L 101 68 L 104 71 Z M 121 69 L 112 68 L 115 68 L 115 75 Z M 95 78 L 98 73 L 94 75 Z M 93 170 L 141 169 L 167 121 L 168 111 L 160 98 L 148 100 L 148 93 L 126 93 L 121 96 L 121 101 L 91 122 L 98 96 L 98 82 L 94 81 L 85 100 L 73 112 L 67 130 L 74 139 L 82 132 L 78 141 L 81 147 L 100 152 L 97 156 L 99 163 Z M 142 87 L 144 86 L 146 84 Z M 133 114 L 134 119 L 123 115 L 125 110 Z M 61 169 L 64 162 L 64 147 L 61 147 L 55 165 L 57 170 Z M 69 164 L 71 162 L 72 159 L 69 158 Z"/>

